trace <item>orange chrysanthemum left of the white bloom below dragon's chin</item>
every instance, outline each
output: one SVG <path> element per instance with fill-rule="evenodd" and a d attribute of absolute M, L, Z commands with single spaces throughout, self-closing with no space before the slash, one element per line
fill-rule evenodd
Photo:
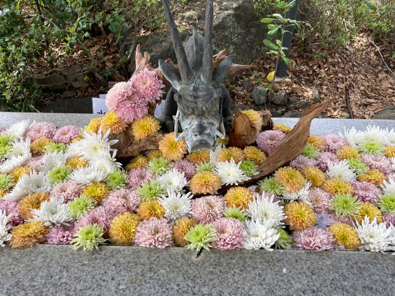
<path fill-rule="evenodd" d="M 192 194 L 217 194 L 219 188 L 221 188 L 221 179 L 209 171 L 198 172 L 189 183 Z"/>

